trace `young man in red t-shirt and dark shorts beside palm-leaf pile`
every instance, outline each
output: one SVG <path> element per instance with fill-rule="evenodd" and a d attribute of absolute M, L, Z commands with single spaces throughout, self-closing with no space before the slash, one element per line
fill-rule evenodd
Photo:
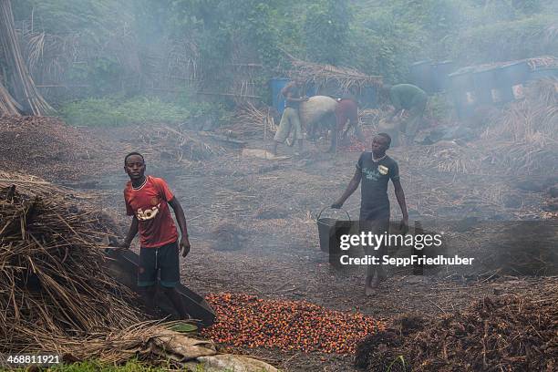
<path fill-rule="evenodd" d="M 180 294 L 175 289 L 181 281 L 179 252 L 182 252 L 182 257 L 190 252 L 181 203 L 176 200 L 167 182 L 145 175 L 145 160 L 140 153 L 131 152 L 126 156 L 124 170 L 130 180 L 124 189 L 124 201 L 132 222 L 120 246 L 128 249 L 136 234 L 140 233 L 138 286 L 143 289 L 148 311 L 154 313 L 157 272 L 160 270 L 160 286 L 180 315 L 187 317 Z M 180 243 L 169 205 L 181 228 Z"/>

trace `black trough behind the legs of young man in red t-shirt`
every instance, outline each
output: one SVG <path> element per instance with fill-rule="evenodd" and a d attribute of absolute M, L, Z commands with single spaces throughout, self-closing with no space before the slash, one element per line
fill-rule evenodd
<path fill-rule="evenodd" d="M 124 284 L 132 291 L 138 292 L 137 278 L 140 256 L 130 250 L 119 251 L 115 249 L 107 249 L 105 254 L 109 258 L 106 261 L 109 274 L 120 284 Z M 196 294 L 182 284 L 178 284 L 175 288 L 181 295 L 184 308 L 192 318 L 198 319 L 202 326 L 210 326 L 215 322 L 215 312 L 212 306 L 200 294 Z M 180 317 L 171 301 L 164 294 L 161 294 L 161 291 L 157 291 L 156 300 L 163 315 Z"/>

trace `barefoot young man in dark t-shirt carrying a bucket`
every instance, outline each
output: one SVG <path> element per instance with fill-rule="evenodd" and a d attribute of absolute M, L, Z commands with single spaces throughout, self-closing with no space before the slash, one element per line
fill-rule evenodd
<path fill-rule="evenodd" d="M 332 204 L 332 208 L 341 208 L 349 196 L 353 194 L 361 183 L 360 201 L 360 230 L 373 234 L 388 233 L 389 229 L 389 199 L 387 198 L 387 183 L 393 182 L 399 207 L 403 213 L 401 230 L 408 228 L 408 212 L 405 202 L 405 193 L 399 181 L 398 163 L 387 156 L 391 138 L 386 133 L 379 133 L 372 140 L 372 152 L 363 152 L 356 163 L 356 171 L 349 182 L 346 191 Z M 367 246 L 367 255 L 377 256 L 380 259 L 385 253 L 385 247 Z M 384 268 L 381 264 L 370 264 L 367 267 L 366 294 L 373 294 L 379 282 L 386 279 Z"/>

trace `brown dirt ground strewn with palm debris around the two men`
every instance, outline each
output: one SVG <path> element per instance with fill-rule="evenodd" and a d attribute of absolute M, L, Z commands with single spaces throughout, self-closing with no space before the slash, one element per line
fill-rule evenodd
<path fill-rule="evenodd" d="M 128 220 L 122 189 L 128 178 L 119 163 L 129 150 L 141 151 L 134 149 L 126 130 L 83 130 L 84 136 L 112 150 L 107 153 L 106 167 L 95 170 L 95 177 L 85 177 L 74 184 L 82 191 L 90 191 L 98 208 L 117 218 L 123 233 Z M 250 148 L 263 146 L 263 141 L 257 140 L 248 144 Z M 546 198 L 542 192 L 519 190 L 514 186 L 516 180 L 502 177 L 497 171 L 489 171 L 488 175 L 440 172 L 422 165 L 415 156 L 422 156 L 423 148 L 426 147 L 388 151 L 398 160 L 411 222 L 427 218 L 540 218 Z M 406 313 L 452 312 L 485 295 L 530 294 L 548 281 L 558 283 L 555 277 L 451 272 L 418 276 L 403 269 L 392 271 L 377 294 L 365 296 L 365 269 L 332 268 L 327 255 L 320 251 L 315 222 L 317 213 L 345 189 L 359 153 L 325 155 L 312 145 L 307 150 L 303 157 L 286 160 L 246 158 L 240 150 L 228 150 L 211 160 L 192 163 L 147 157 L 147 173 L 167 180 L 186 212 L 192 247 L 190 255 L 181 261 L 183 284 L 199 294 L 233 292 L 305 299 L 328 308 L 389 320 Z M 291 149 L 280 151 L 289 155 Z M 389 188 L 392 220 L 398 221 L 401 213 L 392 187 Z M 346 211 L 353 219 L 358 216 L 359 201 L 356 191 L 346 202 Z M 235 238 L 220 241 L 223 235 L 219 232 L 223 229 Z M 353 370 L 353 356 L 265 349 L 237 351 L 289 371 Z"/>

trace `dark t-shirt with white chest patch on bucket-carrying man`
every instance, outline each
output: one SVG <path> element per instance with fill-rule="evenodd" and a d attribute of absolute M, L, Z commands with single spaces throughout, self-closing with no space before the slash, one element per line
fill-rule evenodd
<path fill-rule="evenodd" d="M 356 163 L 361 171 L 360 181 L 360 216 L 361 220 L 389 216 L 389 199 L 387 198 L 387 182 L 399 180 L 399 167 L 396 160 L 386 158 L 374 161 L 372 152 L 363 152 Z"/>

